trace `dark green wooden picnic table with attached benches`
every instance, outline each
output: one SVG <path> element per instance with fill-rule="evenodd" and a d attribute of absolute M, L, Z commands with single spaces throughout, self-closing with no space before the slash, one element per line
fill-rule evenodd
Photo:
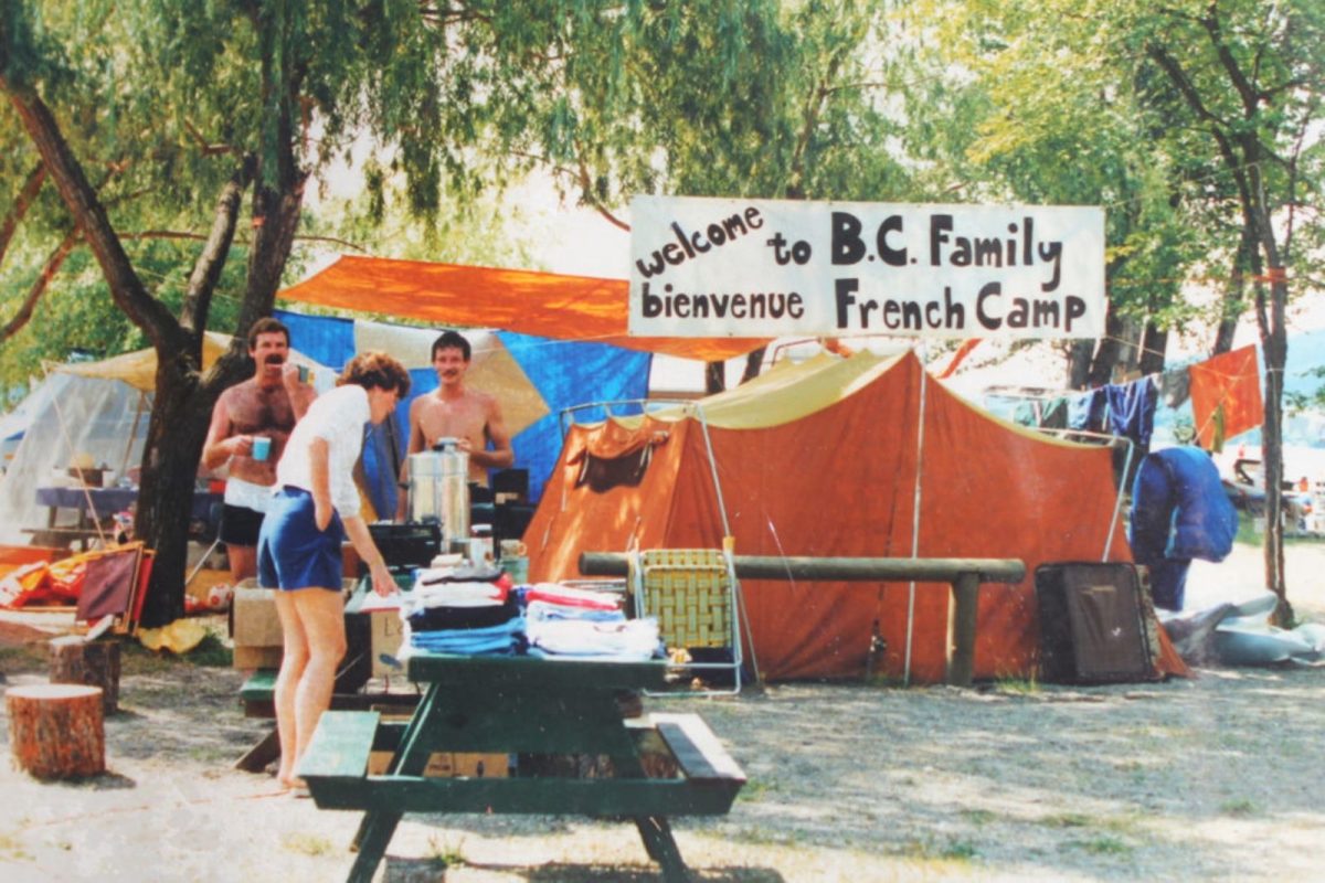
<path fill-rule="evenodd" d="M 405 662 L 425 686 L 408 721 L 375 711 L 322 715 L 295 773 L 321 809 L 362 810 L 348 879 L 372 879 L 404 813 L 533 813 L 629 818 L 669 883 L 686 880 L 669 817 L 726 813 L 745 773 L 697 716 L 623 718 L 619 698 L 661 690 L 668 663 L 460 657 L 416 653 Z M 651 777 L 641 743 L 656 733 L 676 774 Z M 657 740 L 653 740 L 655 743 Z M 368 753 L 390 751 L 382 776 Z M 603 778 L 433 778 L 432 752 L 596 755 L 611 759 Z"/>

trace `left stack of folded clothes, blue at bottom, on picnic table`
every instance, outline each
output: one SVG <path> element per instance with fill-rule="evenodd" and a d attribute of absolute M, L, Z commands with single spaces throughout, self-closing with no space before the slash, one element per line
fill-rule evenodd
<path fill-rule="evenodd" d="M 400 617 L 404 646 L 413 650 L 518 655 L 525 647 L 518 596 L 493 567 L 419 571 Z"/>

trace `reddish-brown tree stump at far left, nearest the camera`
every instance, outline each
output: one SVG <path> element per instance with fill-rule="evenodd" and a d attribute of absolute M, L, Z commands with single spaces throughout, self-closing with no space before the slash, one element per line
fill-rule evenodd
<path fill-rule="evenodd" d="M 9 747 L 37 778 L 80 778 L 106 772 L 101 687 L 33 684 L 5 694 Z"/>

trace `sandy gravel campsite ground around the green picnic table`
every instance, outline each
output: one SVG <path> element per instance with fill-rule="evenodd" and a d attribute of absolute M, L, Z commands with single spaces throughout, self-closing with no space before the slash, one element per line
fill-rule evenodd
<path fill-rule="evenodd" d="M 1291 586 L 1322 565 L 1325 549 L 1291 547 Z M 1236 600 L 1257 573 L 1243 548 L 1194 571 L 1191 592 Z M 1289 597 L 1325 621 L 1325 586 Z M 42 646 L 15 643 L 45 635 L 23 622 L 0 630 L 9 684 L 44 679 Z M 126 667 L 106 776 L 41 784 L 0 764 L 0 879 L 344 878 L 355 814 L 232 769 L 264 728 L 241 716 L 237 673 L 146 653 Z M 698 711 L 750 777 L 727 817 L 674 822 L 696 880 L 1321 879 L 1325 670 L 1198 675 L 1090 688 L 780 684 L 649 708 Z M 379 879 L 657 875 L 628 823 L 411 815 Z"/>

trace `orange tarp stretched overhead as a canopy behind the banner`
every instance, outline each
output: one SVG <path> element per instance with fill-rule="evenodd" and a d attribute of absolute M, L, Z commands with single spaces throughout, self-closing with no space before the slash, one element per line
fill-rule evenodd
<path fill-rule="evenodd" d="M 767 343 L 750 338 L 629 338 L 625 279 L 344 256 L 280 297 L 444 326 L 501 328 L 719 361 Z"/>

